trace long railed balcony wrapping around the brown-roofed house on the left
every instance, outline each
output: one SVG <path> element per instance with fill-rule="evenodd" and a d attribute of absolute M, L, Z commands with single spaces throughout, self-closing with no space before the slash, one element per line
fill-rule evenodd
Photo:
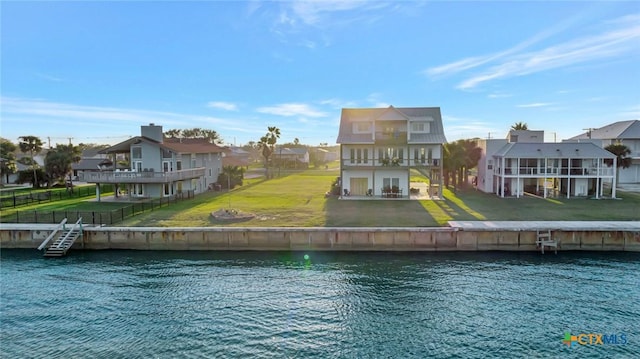
<path fill-rule="evenodd" d="M 78 174 L 78 180 L 88 183 L 171 183 L 203 177 L 205 168 L 171 172 L 101 171 Z"/>

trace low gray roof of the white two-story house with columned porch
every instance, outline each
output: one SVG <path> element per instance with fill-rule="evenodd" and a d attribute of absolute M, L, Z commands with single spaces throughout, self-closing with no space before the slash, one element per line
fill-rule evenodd
<path fill-rule="evenodd" d="M 611 152 L 590 142 L 521 143 L 512 142 L 494 157 L 505 158 L 615 158 Z"/>

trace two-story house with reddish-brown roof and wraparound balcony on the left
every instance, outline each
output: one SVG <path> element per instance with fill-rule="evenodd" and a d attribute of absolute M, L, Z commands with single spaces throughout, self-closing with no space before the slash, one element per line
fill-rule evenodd
<path fill-rule="evenodd" d="M 140 136 L 100 151 L 113 162 L 118 154 L 127 154 L 130 168 L 85 172 L 79 175 L 79 180 L 122 184 L 129 197 L 160 198 L 187 191 L 200 193 L 217 181 L 225 151 L 206 139 L 164 138 L 162 126 L 149 124 L 142 126 Z M 99 192 L 97 195 L 99 198 Z"/>

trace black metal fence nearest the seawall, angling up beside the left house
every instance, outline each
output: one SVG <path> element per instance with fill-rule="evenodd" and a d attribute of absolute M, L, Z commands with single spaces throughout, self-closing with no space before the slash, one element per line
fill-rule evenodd
<path fill-rule="evenodd" d="M 74 223 L 82 217 L 84 224 L 113 225 L 137 214 L 157 210 L 181 200 L 191 199 L 194 196 L 194 191 L 186 191 L 171 197 L 131 203 L 109 211 L 15 211 L 15 213 L 3 215 L 2 221 L 8 223 L 60 223 L 67 218 L 68 223 Z"/>

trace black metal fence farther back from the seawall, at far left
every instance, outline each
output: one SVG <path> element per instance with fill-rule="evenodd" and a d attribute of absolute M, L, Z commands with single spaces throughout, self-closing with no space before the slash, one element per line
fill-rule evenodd
<path fill-rule="evenodd" d="M 113 185 L 100 185 L 100 193 L 113 192 Z M 0 195 L 0 208 L 16 208 L 35 203 L 55 202 L 71 198 L 83 198 L 96 195 L 95 186 L 74 187 L 73 192 L 67 189 L 47 191 L 3 191 Z"/>

